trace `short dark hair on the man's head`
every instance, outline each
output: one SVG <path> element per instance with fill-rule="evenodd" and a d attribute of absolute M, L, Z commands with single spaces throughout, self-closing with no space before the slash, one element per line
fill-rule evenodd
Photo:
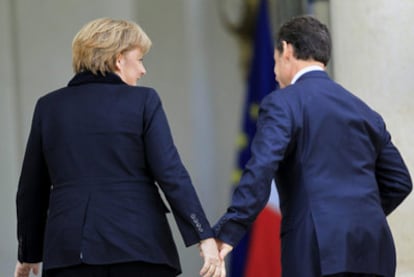
<path fill-rule="evenodd" d="M 276 49 L 280 53 L 283 41 L 293 46 L 294 56 L 299 60 L 314 59 L 327 65 L 331 57 L 329 30 L 312 16 L 296 16 L 284 23 L 276 37 Z"/>

